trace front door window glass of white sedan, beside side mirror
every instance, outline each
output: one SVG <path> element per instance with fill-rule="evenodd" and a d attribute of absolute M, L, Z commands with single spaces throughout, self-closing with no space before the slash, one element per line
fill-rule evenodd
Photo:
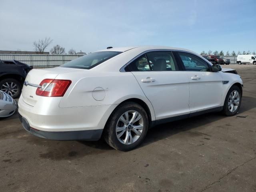
<path fill-rule="evenodd" d="M 186 71 L 211 71 L 208 63 L 190 53 L 178 52 Z"/>

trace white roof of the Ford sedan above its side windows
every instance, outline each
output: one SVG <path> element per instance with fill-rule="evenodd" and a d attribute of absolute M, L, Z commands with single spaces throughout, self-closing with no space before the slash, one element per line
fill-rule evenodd
<path fill-rule="evenodd" d="M 177 48 L 177 47 L 169 47 L 169 46 L 129 46 L 129 47 L 113 47 L 113 48 L 109 48 L 109 49 L 103 49 L 103 50 L 99 50 L 99 51 L 120 51 L 120 52 L 126 52 L 128 50 L 131 49 L 138 49 L 141 52 L 147 51 L 147 50 L 161 50 L 161 49 L 170 49 L 170 50 L 180 50 L 180 51 L 188 51 L 188 52 L 192 52 L 195 53 L 191 50 L 188 49 L 184 49 L 184 48 Z"/>

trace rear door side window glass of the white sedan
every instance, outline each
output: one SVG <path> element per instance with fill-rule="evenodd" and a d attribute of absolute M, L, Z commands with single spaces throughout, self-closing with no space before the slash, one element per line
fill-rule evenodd
<path fill-rule="evenodd" d="M 129 65 L 130 71 L 175 71 L 178 66 L 168 51 L 148 52 Z"/>

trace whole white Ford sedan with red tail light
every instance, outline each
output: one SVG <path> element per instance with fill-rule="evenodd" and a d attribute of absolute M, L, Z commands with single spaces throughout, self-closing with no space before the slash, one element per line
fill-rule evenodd
<path fill-rule="evenodd" d="M 184 66 L 188 60 L 196 65 Z M 141 144 L 156 124 L 207 112 L 236 114 L 242 86 L 239 75 L 222 72 L 189 50 L 108 48 L 60 67 L 31 70 L 18 112 L 24 128 L 36 136 L 103 136 L 113 148 L 127 151 Z"/>

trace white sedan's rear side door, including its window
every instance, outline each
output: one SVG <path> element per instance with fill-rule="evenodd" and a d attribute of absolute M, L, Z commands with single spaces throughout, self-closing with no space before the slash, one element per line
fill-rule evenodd
<path fill-rule="evenodd" d="M 128 65 L 152 103 L 156 120 L 189 115 L 189 79 L 171 51 L 152 51 Z"/>

